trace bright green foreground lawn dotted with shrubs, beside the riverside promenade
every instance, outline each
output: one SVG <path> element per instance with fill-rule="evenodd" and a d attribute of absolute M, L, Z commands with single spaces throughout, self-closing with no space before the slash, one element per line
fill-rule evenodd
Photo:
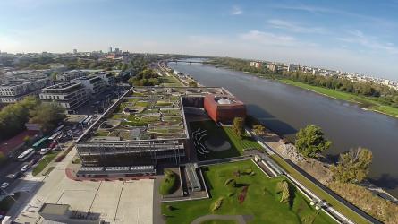
<path fill-rule="evenodd" d="M 251 169 L 254 176 L 234 173 L 238 170 Z M 299 191 L 292 187 L 292 201 L 279 202 L 281 195 L 276 187 L 285 177 L 268 178 L 251 160 L 226 163 L 202 168 L 209 187 L 210 199 L 189 202 L 166 202 L 162 204 L 162 213 L 166 215 L 166 223 L 191 223 L 192 220 L 207 214 L 252 215 L 248 223 L 334 223 L 324 212 L 315 211 Z M 236 194 L 231 195 L 231 188 L 224 185 L 225 181 L 233 178 L 237 185 Z M 243 202 L 239 202 L 238 195 L 248 186 Z M 211 211 L 213 203 L 223 197 L 221 207 Z M 172 210 L 167 206 L 171 205 Z M 209 222 L 212 223 L 212 222 Z M 213 223 L 223 223 L 215 221 Z"/>

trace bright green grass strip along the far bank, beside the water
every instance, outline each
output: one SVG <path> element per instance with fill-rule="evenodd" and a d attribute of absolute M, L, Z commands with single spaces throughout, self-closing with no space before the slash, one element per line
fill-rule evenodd
<path fill-rule="evenodd" d="M 382 113 L 388 116 L 398 117 L 398 108 L 393 108 L 390 106 L 385 106 L 376 100 L 368 99 L 366 97 L 357 96 L 355 94 L 351 94 L 348 92 L 338 91 L 338 90 L 331 90 L 324 87 L 319 86 L 312 86 L 302 82 L 295 82 L 292 80 L 282 79 L 279 82 L 289 84 L 292 86 L 300 87 L 301 89 L 311 90 L 317 92 L 319 94 L 325 95 L 330 98 L 334 99 L 342 99 L 345 101 L 349 101 L 352 103 L 358 103 L 362 106 L 365 106 L 366 109 L 372 110 L 378 113 Z"/>

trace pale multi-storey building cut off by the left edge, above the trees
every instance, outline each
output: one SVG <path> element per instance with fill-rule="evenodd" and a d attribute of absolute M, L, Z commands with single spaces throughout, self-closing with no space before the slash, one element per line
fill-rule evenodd
<path fill-rule="evenodd" d="M 8 104 L 21 101 L 26 96 L 36 96 L 49 85 L 48 78 L 5 80 L 0 85 L 0 103 Z"/>

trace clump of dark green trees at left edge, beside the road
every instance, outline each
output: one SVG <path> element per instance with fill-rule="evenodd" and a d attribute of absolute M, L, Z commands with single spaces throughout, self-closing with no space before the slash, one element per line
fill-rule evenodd
<path fill-rule="evenodd" d="M 56 104 L 43 104 L 35 97 L 26 97 L 0 111 L 0 139 L 21 133 L 27 122 L 38 124 L 47 133 L 65 117 L 64 108 Z"/>

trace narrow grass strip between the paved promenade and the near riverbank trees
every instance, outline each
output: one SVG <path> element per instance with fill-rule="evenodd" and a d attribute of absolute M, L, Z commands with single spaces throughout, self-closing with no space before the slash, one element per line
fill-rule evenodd
<path fill-rule="evenodd" d="M 345 215 L 348 219 L 352 220 L 355 223 L 367 223 L 360 215 L 356 212 L 352 211 L 350 208 L 345 206 L 342 202 L 338 202 L 334 199 L 330 194 L 327 194 L 324 190 L 315 185 L 309 179 L 302 176 L 297 170 L 292 168 L 290 164 L 288 164 L 284 159 L 280 158 L 278 155 L 274 154 L 270 156 L 272 159 L 275 160 L 279 166 L 284 168 L 292 177 L 294 177 L 297 181 L 301 183 L 301 185 L 305 185 L 311 192 L 317 194 L 318 197 L 326 200 L 330 205 L 334 207 L 335 210 L 340 211 L 343 215 Z"/>

